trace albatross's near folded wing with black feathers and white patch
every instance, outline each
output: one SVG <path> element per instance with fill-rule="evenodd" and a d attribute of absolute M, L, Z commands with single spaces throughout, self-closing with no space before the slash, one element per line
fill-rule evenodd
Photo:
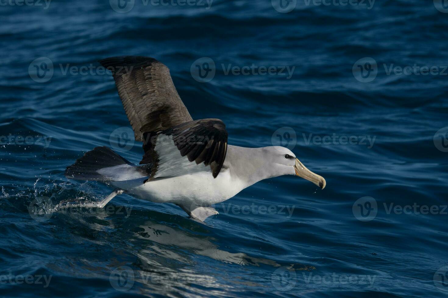
<path fill-rule="evenodd" d="M 152 164 L 150 179 L 203 171 L 203 166 L 196 166 L 201 163 L 210 165 L 216 178 L 224 164 L 227 138 L 220 119 L 200 119 L 158 133 L 145 132 L 145 155 L 140 164 Z"/>

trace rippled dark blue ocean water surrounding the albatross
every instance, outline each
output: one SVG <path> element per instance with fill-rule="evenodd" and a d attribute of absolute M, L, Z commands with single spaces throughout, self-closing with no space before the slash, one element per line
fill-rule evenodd
<path fill-rule="evenodd" d="M 0 296 L 446 296 L 448 8 L 319 3 L 2 1 Z M 65 178 L 84 152 L 141 159 L 116 139 L 115 55 L 163 62 L 194 119 L 293 148 L 327 187 L 264 180 L 206 224 L 125 194 L 50 208 L 110 193 Z"/>

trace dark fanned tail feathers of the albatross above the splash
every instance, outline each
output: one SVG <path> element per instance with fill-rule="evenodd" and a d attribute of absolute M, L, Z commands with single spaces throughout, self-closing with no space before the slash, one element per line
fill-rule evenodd
<path fill-rule="evenodd" d="M 132 163 L 108 147 L 96 147 L 67 167 L 65 176 L 75 180 L 113 180 L 111 177 L 105 176 L 104 173 L 101 174 L 102 171 L 99 170 L 120 165 L 133 166 Z"/>

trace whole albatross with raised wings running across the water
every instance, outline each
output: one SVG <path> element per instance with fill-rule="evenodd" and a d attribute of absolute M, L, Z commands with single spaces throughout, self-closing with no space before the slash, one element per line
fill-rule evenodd
<path fill-rule="evenodd" d="M 228 145 L 220 119 L 193 120 L 168 67 L 156 59 L 120 56 L 99 62 L 112 71 L 144 153 L 135 165 L 108 147 L 96 147 L 67 167 L 69 179 L 98 180 L 115 187 L 96 207 L 103 208 L 116 195 L 128 193 L 147 201 L 174 203 L 203 222 L 218 214 L 213 204 L 260 180 L 296 175 L 325 187 L 325 179 L 307 169 L 288 148 Z"/>

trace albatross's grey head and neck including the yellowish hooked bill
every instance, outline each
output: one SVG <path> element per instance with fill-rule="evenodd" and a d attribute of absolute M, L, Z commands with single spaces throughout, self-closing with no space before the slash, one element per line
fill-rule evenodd
<path fill-rule="evenodd" d="M 248 185 L 283 175 L 302 177 L 321 189 L 327 184 L 322 176 L 306 168 L 291 150 L 281 146 L 245 148 L 228 145 L 224 167 L 230 168 Z"/>

